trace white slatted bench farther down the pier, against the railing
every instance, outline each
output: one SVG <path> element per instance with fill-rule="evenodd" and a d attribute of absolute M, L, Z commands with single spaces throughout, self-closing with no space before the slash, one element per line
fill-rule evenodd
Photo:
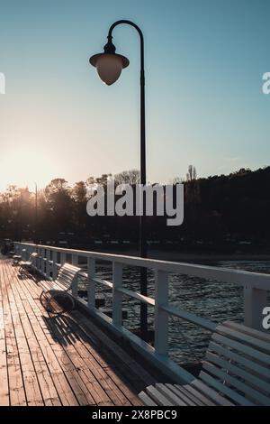
<path fill-rule="evenodd" d="M 77 274 L 80 271 L 80 268 L 70 263 L 65 263 L 61 266 L 55 281 L 40 281 L 40 287 L 42 288 L 40 302 L 42 306 L 50 312 L 62 313 L 66 310 L 65 307 L 61 308 L 58 305 L 58 309 L 56 309 L 55 301 L 58 302 L 64 297 L 71 303 L 71 307 L 68 309 L 74 309 L 75 300 L 72 296 L 72 289 L 76 284 Z"/>

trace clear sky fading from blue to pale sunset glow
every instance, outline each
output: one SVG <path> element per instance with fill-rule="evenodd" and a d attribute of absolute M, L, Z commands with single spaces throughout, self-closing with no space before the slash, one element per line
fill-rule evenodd
<path fill-rule="evenodd" d="M 139 38 L 103 85 L 88 63 L 110 25 L 145 35 L 147 175 L 152 182 L 269 165 L 269 0 L 0 0 L 0 189 L 139 168 Z"/>

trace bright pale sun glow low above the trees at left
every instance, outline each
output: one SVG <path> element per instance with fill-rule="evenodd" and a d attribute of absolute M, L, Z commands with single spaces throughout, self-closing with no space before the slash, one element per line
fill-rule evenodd
<path fill-rule="evenodd" d="M 58 175 L 55 158 L 48 152 L 31 146 L 24 149 L 5 148 L 0 156 L 0 190 L 8 185 L 32 189 L 36 182 L 39 188 L 45 187 Z"/>

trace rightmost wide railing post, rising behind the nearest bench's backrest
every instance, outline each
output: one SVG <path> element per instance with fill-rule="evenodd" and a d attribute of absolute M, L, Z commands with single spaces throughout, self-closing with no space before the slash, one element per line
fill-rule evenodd
<path fill-rule="evenodd" d="M 245 326 L 264 331 L 263 309 L 267 306 L 267 291 L 244 287 Z"/>

